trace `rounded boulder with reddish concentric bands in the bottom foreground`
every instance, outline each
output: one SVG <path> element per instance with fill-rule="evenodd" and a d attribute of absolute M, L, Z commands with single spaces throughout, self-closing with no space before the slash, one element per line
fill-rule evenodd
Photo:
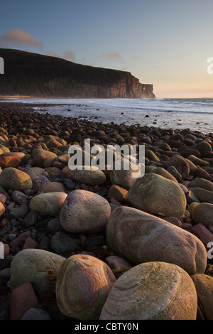
<path fill-rule="evenodd" d="M 115 281 L 111 269 L 101 260 L 89 255 L 73 255 L 58 271 L 58 307 L 71 318 L 98 319 Z"/>

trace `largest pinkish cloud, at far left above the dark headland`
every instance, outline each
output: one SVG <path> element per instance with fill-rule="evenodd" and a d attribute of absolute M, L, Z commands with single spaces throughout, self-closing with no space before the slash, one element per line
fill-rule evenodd
<path fill-rule="evenodd" d="M 21 29 L 11 29 L 6 31 L 4 35 L 0 36 L 0 41 L 6 44 L 35 46 L 35 48 L 42 48 L 43 43 L 40 43 L 31 33 L 27 33 Z"/>

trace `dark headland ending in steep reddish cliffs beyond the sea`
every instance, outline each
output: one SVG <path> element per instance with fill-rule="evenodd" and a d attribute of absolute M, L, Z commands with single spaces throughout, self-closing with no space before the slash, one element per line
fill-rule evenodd
<path fill-rule="evenodd" d="M 153 85 L 141 84 L 130 72 L 4 48 L 0 57 L 1 97 L 155 98 Z"/>

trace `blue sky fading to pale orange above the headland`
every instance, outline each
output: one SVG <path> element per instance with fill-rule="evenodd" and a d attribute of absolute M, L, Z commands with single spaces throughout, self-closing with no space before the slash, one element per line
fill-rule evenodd
<path fill-rule="evenodd" d="M 212 40 L 212 0 L 0 0 L 0 48 L 125 70 L 158 98 L 213 97 Z"/>

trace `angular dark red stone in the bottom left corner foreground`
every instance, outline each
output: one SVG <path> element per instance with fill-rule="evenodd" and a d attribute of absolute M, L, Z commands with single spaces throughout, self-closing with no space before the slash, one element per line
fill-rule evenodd
<path fill-rule="evenodd" d="M 29 308 L 38 306 L 31 283 L 25 283 L 14 289 L 11 293 L 11 320 L 21 320 Z"/>

